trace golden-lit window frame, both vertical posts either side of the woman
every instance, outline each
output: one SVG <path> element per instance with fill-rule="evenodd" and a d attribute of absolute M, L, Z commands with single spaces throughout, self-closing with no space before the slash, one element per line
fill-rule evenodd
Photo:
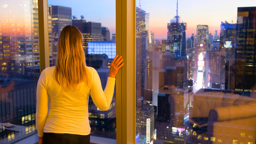
<path fill-rule="evenodd" d="M 48 2 L 38 0 L 40 72 L 49 67 Z M 136 137 L 136 0 L 116 0 L 117 55 L 124 66 L 116 77 L 117 143 Z"/>

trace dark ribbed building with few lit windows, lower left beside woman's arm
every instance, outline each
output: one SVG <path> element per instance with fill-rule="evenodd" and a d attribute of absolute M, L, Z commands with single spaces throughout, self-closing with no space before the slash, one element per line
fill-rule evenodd
<path fill-rule="evenodd" d="M 37 133 L 35 127 L 37 80 L 34 77 L 19 76 L 17 80 L 4 87 L 1 86 L 0 91 L 2 127 L 0 143 L 16 143 Z"/>

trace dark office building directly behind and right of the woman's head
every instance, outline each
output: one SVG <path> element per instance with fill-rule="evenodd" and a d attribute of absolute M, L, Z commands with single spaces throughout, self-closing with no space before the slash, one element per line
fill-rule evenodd
<path fill-rule="evenodd" d="M 76 26 L 84 37 L 84 52 L 88 53 L 88 41 L 101 41 L 102 40 L 102 24 L 96 22 L 87 22 L 84 19 L 73 19 L 72 25 Z"/>

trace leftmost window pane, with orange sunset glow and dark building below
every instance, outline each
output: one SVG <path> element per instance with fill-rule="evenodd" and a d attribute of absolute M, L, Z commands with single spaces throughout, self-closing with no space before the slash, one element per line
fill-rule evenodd
<path fill-rule="evenodd" d="M 0 1 L 0 143 L 36 133 L 38 3 Z"/>

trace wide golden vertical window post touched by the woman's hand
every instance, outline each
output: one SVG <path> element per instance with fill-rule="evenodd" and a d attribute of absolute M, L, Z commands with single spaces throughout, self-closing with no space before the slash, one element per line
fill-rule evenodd
<path fill-rule="evenodd" d="M 135 143 L 135 0 L 116 1 L 117 55 L 124 66 L 117 75 L 117 143 Z"/>

